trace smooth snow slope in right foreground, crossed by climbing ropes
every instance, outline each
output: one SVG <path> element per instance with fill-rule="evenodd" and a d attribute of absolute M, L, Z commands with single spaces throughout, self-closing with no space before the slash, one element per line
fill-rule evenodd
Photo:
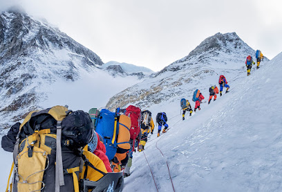
<path fill-rule="evenodd" d="M 281 64 L 282 53 L 251 76 L 238 74 L 228 94 L 185 121 L 179 101 L 149 107 L 153 116 L 167 112 L 171 126 L 157 139 L 155 130 L 144 150 L 158 191 L 173 191 L 166 162 L 176 191 L 282 191 Z M 142 152 L 131 171 L 124 191 L 156 191 Z"/>

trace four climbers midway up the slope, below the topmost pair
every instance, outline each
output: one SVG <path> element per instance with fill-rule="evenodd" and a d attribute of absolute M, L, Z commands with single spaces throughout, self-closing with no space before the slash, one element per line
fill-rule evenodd
<path fill-rule="evenodd" d="M 225 94 L 229 92 L 229 85 L 227 85 L 227 80 L 226 80 L 225 76 L 223 76 L 223 75 L 219 76 L 218 84 L 220 86 L 220 91 L 219 91 L 220 96 L 223 95 L 223 87 L 226 87 Z M 213 96 L 214 96 L 214 101 L 216 101 L 216 98 L 217 98 L 216 94 L 218 94 L 218 87 L 216 87 L 216 85 L 212 85 L 212 87 L 209 87 L 209 102 L 208 102 L 208 104 L 211 103 Z M 200 103 L 203 103 L 202 101 L 204 99 L 205 99 L 205 97 L 200 92 L 200 90 L 196 89 L 194 91 L 193 98 L 192 98 L 192 101 L 195 102 L 194 112 L 196 112 L 197 109 L 200 110 Z M 181 107 L 181 110 L 182 110 L 182 120 L 184 121 L 185 120 L 185 113 L 190 112 L 189 116 L 191 116 L 193 110 L 192 110 L 191 104 L 185 98 L 182 98 L 180 100 L 180 107 Z"/>

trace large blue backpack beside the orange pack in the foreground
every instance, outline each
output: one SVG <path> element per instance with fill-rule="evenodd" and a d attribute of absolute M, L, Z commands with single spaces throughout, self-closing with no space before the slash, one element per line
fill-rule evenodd
<path fill-rule="evenodd" d="M 115 134 L 115 141 L 112 143 L 113 140 L 113 132 L 115 126 L 115 112 L 111 112 L 109 110 L 103 109 L 100 112 L 100 116 L 97 119 L 97 126 L 95 131 L 100 134 L 104 139 L 104 145 L 106 146 L 106 156 L 111 159 L 115 157 L 115 153 L 117 152 L 118 143 L 118 125 Z"/>

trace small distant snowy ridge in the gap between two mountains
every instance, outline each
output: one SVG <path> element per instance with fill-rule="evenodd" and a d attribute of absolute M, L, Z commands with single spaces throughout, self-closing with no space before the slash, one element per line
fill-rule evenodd
<path fill-rule="evenodd" d="M 110 61 L 110 62 L 106 62 L 105 64 L 102 65 L 102 69 L 106 69 L 109 66 L 120 66 L 122 68 L 122 71 L 124 71 L 125 73 L 144 73 L 144 75 L 150 75 L 151 73 L 153 73 L 153 71 L 147 67 L 139 67 L 136 66 L 134 64 L 128 64 L 125 62 L 115 62 L 115 61 Z"/>

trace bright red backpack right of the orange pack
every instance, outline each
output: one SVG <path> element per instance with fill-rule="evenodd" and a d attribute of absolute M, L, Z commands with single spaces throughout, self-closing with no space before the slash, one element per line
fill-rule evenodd
<path fill-rule="evenodd" d="M 141 110 L 139 107 L 134 107 L 133 105 L 129 105 L 129 107 L 126 108 L 125 115 L 129 116 L 131 119 L 131 128 L 129 132 L 130 132 L 130 139 L 133 139 L 134 142 L 141 130 L 140 129 Z"/>

